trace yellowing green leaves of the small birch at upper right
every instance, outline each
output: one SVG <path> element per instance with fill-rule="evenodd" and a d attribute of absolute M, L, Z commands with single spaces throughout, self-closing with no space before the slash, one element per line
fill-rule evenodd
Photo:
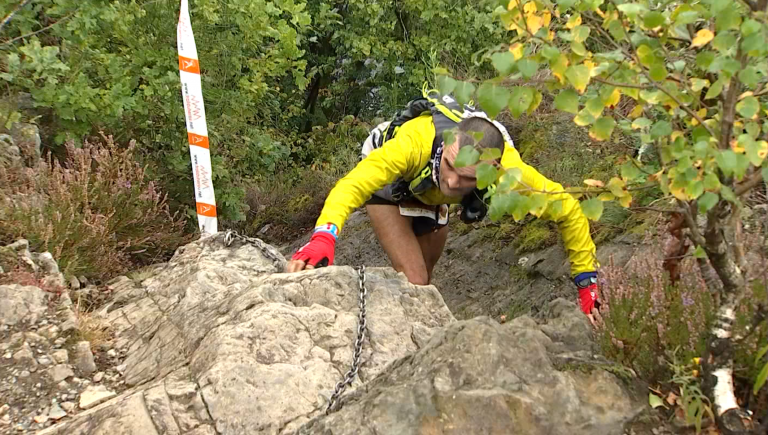
<path fill-rule="evenodd" d="M 738 185 L 761 176 L 768 155 L 761 137 L 768 125 L 768 25 L 749 3 L 514 0 L 499 3 L 494 14 L 510 39 L 489 44 L 483 55 L 498 73 L 477 88 L 492 116 L 505 99 L 514 118 L 535 111 L 537 90 L 499 89 L 543 68 L 549 74 L 539 83 L 556 95 L 555 108 L 576 115 L 593 140 L 619 130 L 659 151 L 658 166 L 636 161 L 621 178 L 568 189 L 590 219 L 600 218 L 603 201 L 628 208 L 635 191 L 652 184 L 682 202 L 703 197 L 700 209 L 708 212 L 737 202 Z M 516 197 L 497 203 L 497 218 L 524 208 Z"/>

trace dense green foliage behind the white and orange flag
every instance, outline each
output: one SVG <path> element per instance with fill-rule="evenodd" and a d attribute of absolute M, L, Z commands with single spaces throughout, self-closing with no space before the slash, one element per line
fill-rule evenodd
<path fill-rule="evenodd" d="M 0 0 L 3 10 L 16 4 Z M 469 1 L 199 0 L 190 7 L 217 205 L 232 221 L 245 217 L 248 179 L 316 153 L 296 151 L 313 126 L 389 116 L 433 80 L 438 63 L 490 76 L 473 54 L 505 34 L 489 3 Z M 0 34 L 0 81 L 10 94 L 31 94 L 50 132 L 43 143 L 59 157 L 65 140 L 80 144 L 101 130 L 136 139 L 170 203 L 193 217 L 177 21 L 178 2 L 31 2 Z M 475 92 L 464 82 L 455 87 L 457 95 Z"/>

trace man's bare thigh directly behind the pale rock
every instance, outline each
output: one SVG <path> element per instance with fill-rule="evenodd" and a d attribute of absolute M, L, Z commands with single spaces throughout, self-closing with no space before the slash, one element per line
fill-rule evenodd
<path fill-rule="evenodd" d="M 429 284 L 429 271 L 419 240 L 413 233 L 412 218 L 401 216 L 396 205 L 368 204 L 365 208 L 392 267 L 403 272 L 412 284 Z"/>

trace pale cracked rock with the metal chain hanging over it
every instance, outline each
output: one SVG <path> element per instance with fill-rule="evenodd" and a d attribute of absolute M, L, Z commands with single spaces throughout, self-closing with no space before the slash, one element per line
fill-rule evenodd
<path fill-rule="evenodd" d="M 128 349 L 132 388 L 44 433 L 277 434 L 322 413 L 352 361 L 357 272 L 275 273 L 285 259 L 274 248 L 222 240 L 180 248 L 141 285 L 110 284 L 97 315 L 113 347 Z M 367 288 L 369 335 L 350 390 L 454 321 L 436 288 L 391 269 L 369 270 Z"/>

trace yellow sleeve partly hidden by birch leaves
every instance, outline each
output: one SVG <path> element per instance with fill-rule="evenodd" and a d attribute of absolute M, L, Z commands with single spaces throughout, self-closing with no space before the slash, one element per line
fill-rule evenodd
<path fill-rule="evenodd" d="M 504 150 L 501 165 L 507 169 L 518 168 L 522 171 L 520 183 L 515 187 L 515 190 L 520 191 L 521 194 L 535 193 L 527 189 L 546 192 L 562 192 L 564 190 L 561 184 L 547 179 L 532 166 L 523 162 L 520 153 L 510 146 Z M 589 233 L 589 222 L 582 213 L 579 202 L 568 193 L 550 195 L 548 199 L 559 201 L 562 207 L 550 206 L 540 217 L 557 223 L 570 258 L 571 276 L 575 277 L 582 272 L 595 271 L 597 267 L 595 244 Z"/>

